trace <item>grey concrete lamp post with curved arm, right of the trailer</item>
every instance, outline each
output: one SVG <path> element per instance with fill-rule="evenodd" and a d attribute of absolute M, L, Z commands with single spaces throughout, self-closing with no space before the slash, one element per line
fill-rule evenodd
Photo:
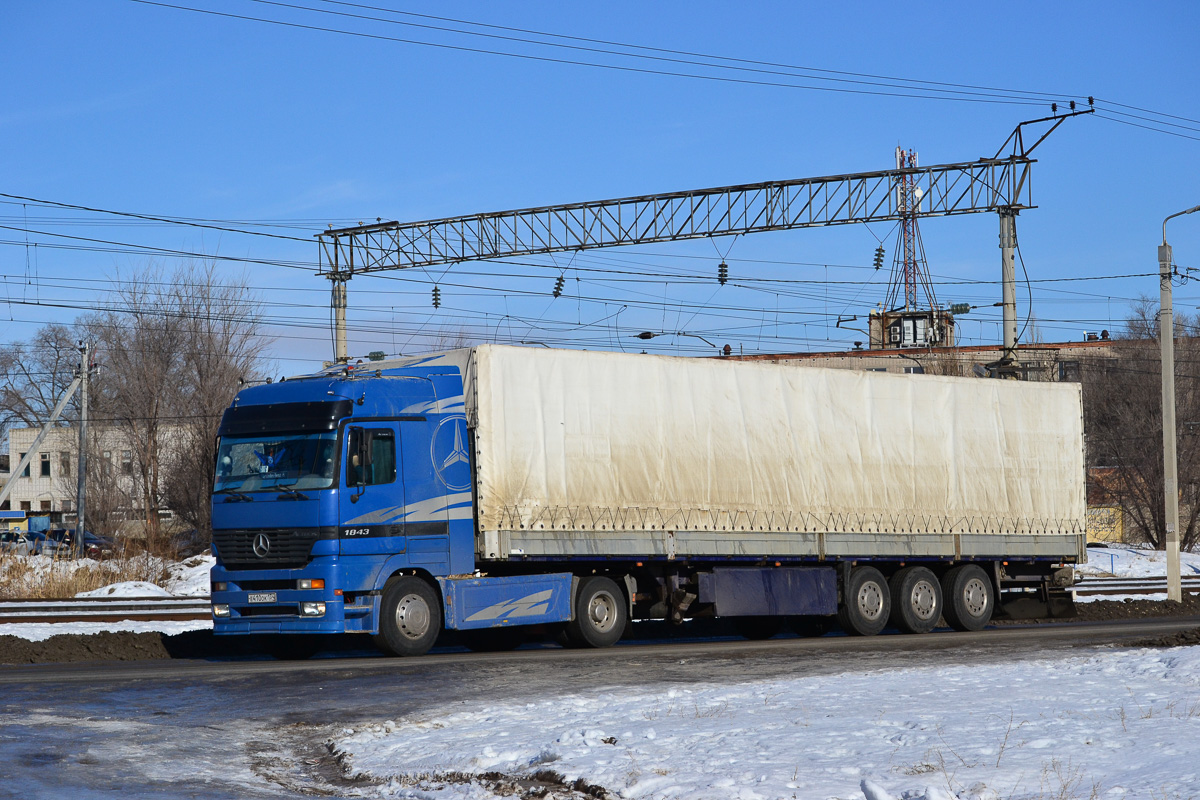
<path fill-rule="evenodd" d="M 1163 351 L 1163 495 L 1166 504 L 1166 599 L 1183 601 L 1180 581 L 1180 477 L 1175 453 L 1175 315 L 1171 307 L 1171 246 L 1166 243 L 1166 223 L 1184 213 L 1200 211 L 1200 205 L 1163 219 L 1163 243 L 1158 246 L 1158 343 Z"/>

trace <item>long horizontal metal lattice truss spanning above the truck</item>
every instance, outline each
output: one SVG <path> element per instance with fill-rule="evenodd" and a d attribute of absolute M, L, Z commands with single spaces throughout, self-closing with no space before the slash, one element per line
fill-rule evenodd
<path fill-rule="evenodd" d="M 547 205 L 319 234 L 322 272 L 432 266 L 596 247 L 899 219 L 898 186 L 919 192 L 917 217 L 1033 207 L 1022 155 L 827 178 Z"/>

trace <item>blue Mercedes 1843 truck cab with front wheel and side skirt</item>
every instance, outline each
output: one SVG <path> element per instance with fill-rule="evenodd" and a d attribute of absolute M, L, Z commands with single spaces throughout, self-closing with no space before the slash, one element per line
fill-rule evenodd
<path fill-rule="evenodd" d="M 570 573 L 476 572 L 461 368 L 366 367 L 250 386 L 226 410 L 215 632 L 367 633 L 419 655 L 443 627 L 569 622 Z"/>

